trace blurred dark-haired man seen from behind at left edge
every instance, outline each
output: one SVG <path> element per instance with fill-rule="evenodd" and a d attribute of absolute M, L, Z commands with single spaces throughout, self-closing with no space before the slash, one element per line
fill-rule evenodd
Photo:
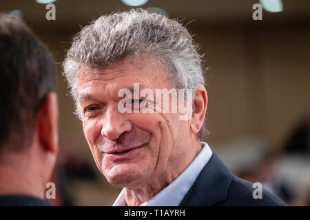
<path fill-rule="evenodd" d="M 0 206 L 49 206 L 58 153 L 54 62 L 21 22 L 0 14 Z"/>

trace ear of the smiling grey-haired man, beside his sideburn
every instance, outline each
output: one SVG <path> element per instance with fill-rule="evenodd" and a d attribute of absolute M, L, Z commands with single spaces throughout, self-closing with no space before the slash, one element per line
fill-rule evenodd
<path fill-rule="evenodd" d="M 197 134 L 203 122 L 205 121 L 205 112 L 207 111 L 208 96 L 207 91 L 203 85 L 199 85 L 193 102 L 193 113 L 192 113 L 192 122 L 191 130 L 194 134 Z"/>

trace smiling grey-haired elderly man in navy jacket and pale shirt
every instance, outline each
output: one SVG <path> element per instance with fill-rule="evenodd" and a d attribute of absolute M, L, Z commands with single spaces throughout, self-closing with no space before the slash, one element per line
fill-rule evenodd
<path fill-rule="evenodd" d="M 145 10 L 102 16 L 74 37 L 64 74 L 96 165 L 123 187 L 114 206 L 285 205 L 265 189 L 256 199 L 200 142 L 207 91 L 196 49 L 180 23 Z"/>

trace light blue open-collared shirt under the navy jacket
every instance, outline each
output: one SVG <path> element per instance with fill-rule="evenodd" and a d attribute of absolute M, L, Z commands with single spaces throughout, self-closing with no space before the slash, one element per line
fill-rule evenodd
<path fill-rule="evenodd" d="M 194 161 L 171 184 L 161 190 L 155 197 L 145 201 L 141 206 L 178 206 L 189 189 L 196 181 L 199 173 L 211 158 L 212 151 L 206 142 L 200 142 L 203 147 Z M 125 189 L 118 195 L 113 206 L 127 206 Z"/>

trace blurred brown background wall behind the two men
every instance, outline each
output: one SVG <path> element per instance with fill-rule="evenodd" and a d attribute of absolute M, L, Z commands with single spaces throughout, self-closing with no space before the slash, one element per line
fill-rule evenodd
<path fill-rule="evenodd" d="M 298 192 L 302 187 L 307 188 L 306 177 L 310 173 L 305 175 L 300 170 L 309 171 L 310 154 L 302 157 L 304 163 L 291 166 L 291 161 L 300 162 L 300 159 L 287 159 L 285 149 L 296 128 L 307 121 L 310 113 L 310 1 L 280 2 L 283 10 L 276 13 L 262 10 L 261 21 L 252 19 L 252 6 L 258 1 L 149 0 L 140 7 L 164 10 L 161 12 L 168 17 L 183 21 L 200 45 L 200 54 L 205 54 L 210 131 L 205 141 L 209 146 L 234 173 L 251 181 L 269 181 L 268 175 L 278 178 L 279 173 L 287 177 L 298 170 L 296 177 L 288 177 L 293 180 L 287 181 L 287 191 L 291 193 L 287 202 L 307 205 L 307 199 L 300 200 Z M 52 202 L 110 206 L 120 189 L 110 186 L 94 164 L 81 122 L 72 113 L 73 101 L 61 76 L 61 62 L 72 36 L 81 27 L 101 14 L 135 7 L 121 0 L 53 3 L 55 21 L 45 19 L 48 12 L 45 4 L 35 0 L 0 2 L 0 12 L 21 17 L 48 45 L 56 61 L 61 174 L 56 173 L 54 178 L 62 182 L 59 186 L 62 195 Z M 276 174 L 271 167 L 276 167 Z"/>

